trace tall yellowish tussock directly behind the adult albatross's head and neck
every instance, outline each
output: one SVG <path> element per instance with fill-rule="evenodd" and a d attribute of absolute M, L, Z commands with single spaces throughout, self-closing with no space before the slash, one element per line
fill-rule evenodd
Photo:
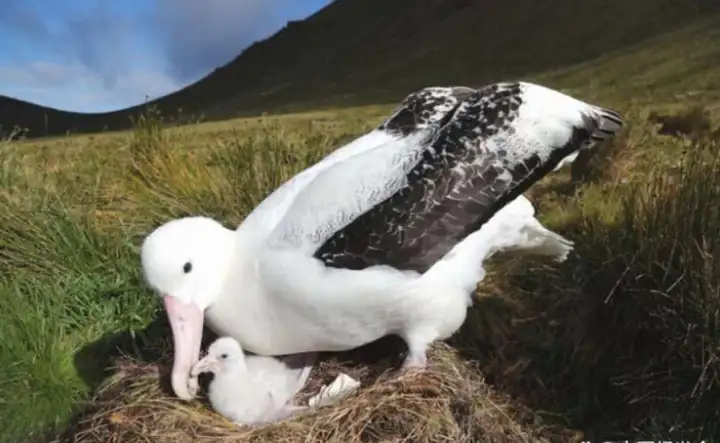
<path fill-rule="evenodd" d="M 231 139 L 202 152 L 178 152 L 159 128 L 159 120 L 143 119 L 134 132 L 123 187 L 138 211 L 163 220 L 201 214 L 238 224 L 272 190 L 337 146 L 312 127 L 298 138 L 265 122 L 249 133 L 232 130 Z"/>

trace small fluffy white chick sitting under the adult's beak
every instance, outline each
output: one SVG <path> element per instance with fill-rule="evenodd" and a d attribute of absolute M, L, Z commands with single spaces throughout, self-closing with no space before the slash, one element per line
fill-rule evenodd
<path fill-rule="evenodd" d="M 228 420 L 243 425 L 262 425 L 290 418 L 305 406 L 292 403 L 305 385 L 317 354 L 301 354 L 298 367 L 280 358 L 246 356 L 240 344 L 222 337 L 208 348 L 207 355 L 190 373 L 196 378 L 204 372 L 214 374 L 208 397 L 213 409 Z"/>

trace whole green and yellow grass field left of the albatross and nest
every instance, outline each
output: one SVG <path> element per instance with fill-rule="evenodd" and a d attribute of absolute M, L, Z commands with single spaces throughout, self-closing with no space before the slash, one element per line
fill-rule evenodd
<path fill-rule="evenodd" d="M 200 130 L 196 144 L 193 128 L 164 130 L 151 115 L 110 140 L 70 139 L 75 150 L 58 149 L 62 140 L 5 143 L 0 441 L 65 423 L 105 375 L 114 345 L 142 356 L 159 305 L 140 281 L 137 248 L 153 225 L 191 213 L 238 223 L 338 137 L 366 129 L 348 122 L 241 122 L 221 137 Z"/>

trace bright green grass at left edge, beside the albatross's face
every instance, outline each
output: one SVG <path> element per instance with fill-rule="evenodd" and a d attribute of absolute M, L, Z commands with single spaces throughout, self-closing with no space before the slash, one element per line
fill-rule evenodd
<path fill-rule="evenodd" d="M 101 233 L 92 214 L 83 214 L 92 210 L 88 196 L 74 193 L 88 206 L 67 206 L 62 198 L 78 187 L 65 185 L 10 187 L 0 199 L 4 441 L 64 423 L 87 395 L 74 367 L 79 348 L 138 328 L 155 311 L 139 296 L 136 256 L 124 232 Z"/>

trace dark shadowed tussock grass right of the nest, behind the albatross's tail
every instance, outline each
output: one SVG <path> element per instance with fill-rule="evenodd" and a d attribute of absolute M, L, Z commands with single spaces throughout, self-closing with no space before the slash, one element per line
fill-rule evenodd
<path fill-rule="evenodd" d="M 602 196 L 613 215 L 564 227 L 577 257 L 498 269 L 458 339 L 495 387 L 591 440 L 720 437 L 720 138 L 677 145 L 679 166 Z M 590 197 L 572 199 L 603 207 Z"/>

